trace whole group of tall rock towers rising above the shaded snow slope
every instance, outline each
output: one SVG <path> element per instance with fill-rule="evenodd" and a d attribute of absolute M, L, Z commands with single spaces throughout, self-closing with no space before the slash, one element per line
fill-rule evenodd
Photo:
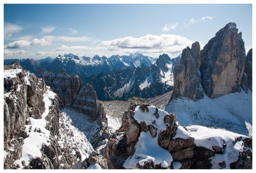
<path fill-rule="evenodd" d="M 198 42 L 182 51 L 179 66 L 173 72 L 172 98 L 192 100 L 252 90 L 252 49 L 245 57 L 242 33 L 228 23 L 200 51 Z"/>

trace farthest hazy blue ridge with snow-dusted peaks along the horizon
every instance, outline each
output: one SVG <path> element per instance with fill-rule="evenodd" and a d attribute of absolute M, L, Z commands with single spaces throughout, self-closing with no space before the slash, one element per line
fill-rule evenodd
<path fill-rule="evenodd" d="M 67 73 L 76 73 L 82 79 L 91 75 L 100 73 L 111 73 L 112 71 L 122 68 L 136 68 L 142 64 L 150 66 L 156 62 L 156 58 L 143 56 L 139 53 L 130 54 L 129 56 L 76 56 L 74 54 L 59 55 L 55 59 L 46 57 L 45 59 L 4 59 L 4 65 L 19 63 L 22 68 L 29 70 L 36 75 L 42 68 L 48 71 L 60 72 L 63 68 Z"/>

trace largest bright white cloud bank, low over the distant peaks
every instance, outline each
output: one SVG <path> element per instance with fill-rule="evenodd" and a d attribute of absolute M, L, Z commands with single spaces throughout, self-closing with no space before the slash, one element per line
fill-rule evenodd
<path fill-rule="evenodd" d="M 179 55 L 184 48 L 191 46 L 193 41 L 175 34 L 152 35 L 147 34 L 140 38 L 127 36 L 115 40 L 102 41 L 101 47 L 116 52 L 141 52 L 149 56 L 158 57 L 159 54 L 168 53 L 170 56 Z"/>

